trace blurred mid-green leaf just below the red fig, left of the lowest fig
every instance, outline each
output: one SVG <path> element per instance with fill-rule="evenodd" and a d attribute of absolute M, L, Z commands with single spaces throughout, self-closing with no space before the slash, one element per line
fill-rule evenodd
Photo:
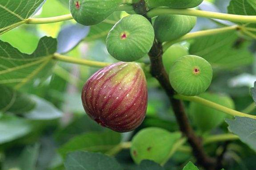
<path fill-rule="evenodd" d="M 59 152 L 63 157 L 65 157 L 67 153 L 77 150 L 105 153 L 113 149 L 120 141 L 120 133 L 113 131 L 85 133 L 74 137 L 64 144 L 59 148 Z"/>

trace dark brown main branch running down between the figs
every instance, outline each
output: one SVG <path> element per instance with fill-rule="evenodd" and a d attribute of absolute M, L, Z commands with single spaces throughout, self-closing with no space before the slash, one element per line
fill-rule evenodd
<path fill-rule="evenodd" d="M 147 17 L 145 0 L 140 0 L 138 3 L 134 4 L 134 11 L 138 14 L 142 14 Z M 147 17 L 151 22 L 151 18 Z M 204 167 L 206 170 L 214 170 L 215 169 L 215 159 L 207 156 L 207 153 L 204 151 L 204 147 L 202 145 L 201 139 L 195 135 L 194 130 L 189 124 L 189 120 L 186 116 L 183 103 L 174 99 L 173 96 L 175 94 L 174 89 L 172 88 L 169 77 L 163 67 L 162 55 L 163 55 L 163 47 L 162 44 L 154 40 L 153 46 L 148 53 L 151 61 L 151 75 L 155 77 L 162 88 L 165 90 L 169 100 L 171 102 L 172 108 L 174 110 L 177 123 L 180 127 L 180 131 L 186 136 L 189 144 L 192 147 L 193 154 L 197 159 L 198 164 Z"/>

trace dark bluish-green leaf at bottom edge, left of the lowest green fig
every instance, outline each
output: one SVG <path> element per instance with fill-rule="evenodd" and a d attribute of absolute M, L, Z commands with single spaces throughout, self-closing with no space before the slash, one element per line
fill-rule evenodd
<path fill-rule="evenodd" d="M 112 157 L 81 151 L 69 153 L 64 165 L 66 170 L 122 170 Z"/>

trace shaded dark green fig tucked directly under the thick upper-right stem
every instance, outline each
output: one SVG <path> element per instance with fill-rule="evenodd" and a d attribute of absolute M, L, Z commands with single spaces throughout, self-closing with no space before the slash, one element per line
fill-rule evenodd
<path fill-rule="evenodd" d="M 166 42 L 182 37 L 194 28 L 196 21 L 196 17 L 185 15 L 158 16 L 154 22 L 156 39 Z"/>

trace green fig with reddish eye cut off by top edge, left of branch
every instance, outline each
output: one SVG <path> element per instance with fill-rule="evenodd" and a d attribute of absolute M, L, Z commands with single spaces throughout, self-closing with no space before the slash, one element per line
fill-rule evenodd
<path fill-rule="evenodd" d="M 76 22 L 93 26 L 108 18 L 122 0 L 70 0 L 70 12 Z"/>

